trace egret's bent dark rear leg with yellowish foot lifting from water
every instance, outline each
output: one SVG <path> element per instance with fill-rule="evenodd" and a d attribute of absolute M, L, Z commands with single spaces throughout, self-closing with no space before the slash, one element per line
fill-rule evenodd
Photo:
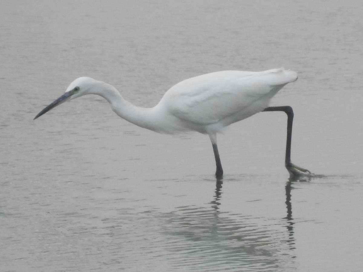
<path fill-rule="evenodd" d="M 263 111 L 284 111 L 287 114 L 287 136 L 286 136 L 286 154 L 285 166 L 290 173 L 290 177 L 311 176 L 311 172 L 291 162 L 291 134 L 293 130 L 294 112 L 290 106 L 268 107 Z"/>

